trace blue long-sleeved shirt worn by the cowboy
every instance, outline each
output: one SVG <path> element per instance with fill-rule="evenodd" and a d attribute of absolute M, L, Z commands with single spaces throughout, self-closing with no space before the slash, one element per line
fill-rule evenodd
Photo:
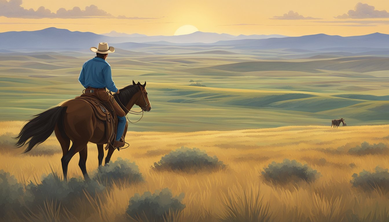
<path fill-rule="evenodd" d="M 111 66 L 98 56 L 84 63 L 78 80 L 85 88 L 107 87 L 108 90 L 117 92 L 115 83 L 112 80 Z"/>

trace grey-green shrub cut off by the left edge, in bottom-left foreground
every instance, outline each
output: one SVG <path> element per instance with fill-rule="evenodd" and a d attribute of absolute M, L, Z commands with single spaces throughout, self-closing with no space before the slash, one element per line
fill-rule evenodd
<path fill-rule="evenodd" d="M 20 206 L 23 196 L 23 186 L 8 172 L 0 170 L 0 218 L 5 213 Z"/>

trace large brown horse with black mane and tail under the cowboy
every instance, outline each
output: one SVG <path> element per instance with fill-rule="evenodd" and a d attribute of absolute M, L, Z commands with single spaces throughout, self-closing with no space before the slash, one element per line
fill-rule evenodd
<path fill-rule="evenodd" d="M 146 82 L 143 85 L 139 82 L 137 84 L 132 82 L 132 85 L 120 89 L 119 94 L 114 94 L 115 100 L 126 114 L 133 105 L 138 105 L 143 111 L 150 111 L 151 105 L 147 98 Z M 73 99 L 35 116 L 23 126 L 19 135 L 16 136 L 18 139 L 16 146 L 26 145 L 27 148 L 23 153 L 28 152 L 35 145 L 49 138 L 54 131 L 62 148 L 61 163 L 64 179 L 67 180 L 69 161 L 77 152 L 80 154 L 78 165 L 84 178 L 89 179 L 86 171 L 87 144 L 88 142 L 99 143 L 105 136 L 105 123 L 96 118 L 93 108 L 83 100 Z M 72 141 L 72 147 L 69 149 L 70 141 Z M 104 156 L 103 144 L 98 144 L 97 147 L 99 165 L 101 165 Z M 109 148 L 105 163 L 110 161 L 114 150 L 113 147 Z"/>

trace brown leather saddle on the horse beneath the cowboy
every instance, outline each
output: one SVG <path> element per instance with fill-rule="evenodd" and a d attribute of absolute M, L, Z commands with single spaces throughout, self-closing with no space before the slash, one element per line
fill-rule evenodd
<path fill-rule="evenodd" d="M 109 144 L 113 144 L 115 140 L 117 129 L 117 117 L 112 104 L 109 101 L 99 100 L 95 93 L 83 93 L 75 99 L 88 103 L 93 108 L 96 118 L 104 122 L 105 136 L 97 144 L 107 144 L 106 149 L 108 149 Z"/>

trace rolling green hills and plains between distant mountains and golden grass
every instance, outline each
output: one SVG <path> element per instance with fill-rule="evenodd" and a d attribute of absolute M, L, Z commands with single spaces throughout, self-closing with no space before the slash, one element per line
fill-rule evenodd
<path fill-rule="evenodd" d="M 389 58 L 196 46 L 110 54 L 118 88 L 147 81 L 152 111 L 131 131 L 203 131 L 290 125 L 389 124 Z M 78 96 L 93 53 L 0 54 L 0 121 L 28 120 Z M 193 86 L 191 86 L 191 84 Z M 138 107 L 135 110 L 140 110 Z M 129 115 L 131 121 L 139 116 Z"/>

